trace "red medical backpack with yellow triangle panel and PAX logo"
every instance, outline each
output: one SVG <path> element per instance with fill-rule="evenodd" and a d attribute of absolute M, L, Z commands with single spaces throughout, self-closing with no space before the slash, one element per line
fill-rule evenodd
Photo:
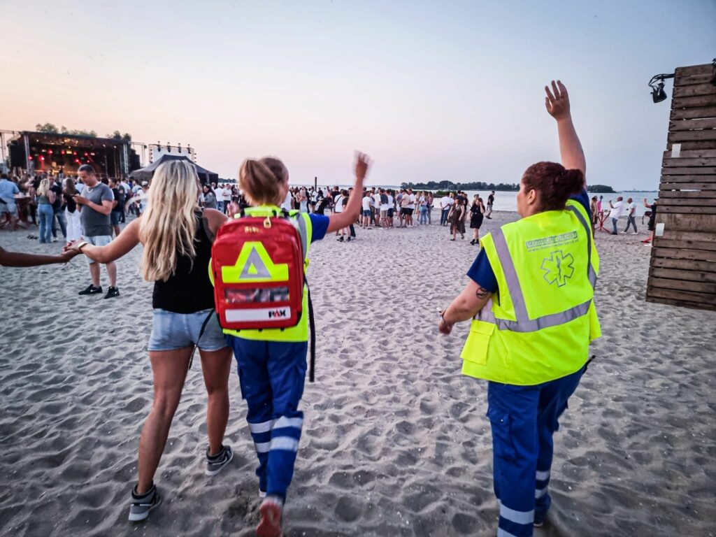
<path fill-rule="evenodd" d="M 216 234 L 210 270 L 224 329 L 289 328 L 301 318 L 304 248 L 298 221 L 274 214 L 237 218 Z"/>

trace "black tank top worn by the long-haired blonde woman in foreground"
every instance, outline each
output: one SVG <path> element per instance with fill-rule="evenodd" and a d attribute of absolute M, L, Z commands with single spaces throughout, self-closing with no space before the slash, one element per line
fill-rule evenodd
<path fill-rule="evenodd" d="M 179 256 L 174 274 L 167 281 L 154 282 L 152 307 L 155 309 L 188 314 L 214 307 L 214 288 L 208 270 L 211 241 L 206 235 L 199 211 L 196 219 L 194 262 L 188 256 Z"/>

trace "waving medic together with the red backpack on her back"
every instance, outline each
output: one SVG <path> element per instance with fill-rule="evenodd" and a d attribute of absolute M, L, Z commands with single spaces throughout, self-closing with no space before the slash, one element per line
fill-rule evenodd
<path fill-rule="evenodd" d="M 367 156 L 357 153 L 354 193 L 362 192 L 368 167 Z M 217 234 L 210 273 L 258 457 L 258 493 L 264 499 L 256 535 L 280 537 L 304 422 L 299 402 L 306 352 L 309 335 L 314 336 L 304 272 L 309 248 L 326 233 L 352 224 L 361 199 L 352 195 L 344 211 L 331 216 L 284 211 L 279 205 L 289 192 L 289 171 L 271 157 L 246 160 L 239 187 L 251 208 Z"/>

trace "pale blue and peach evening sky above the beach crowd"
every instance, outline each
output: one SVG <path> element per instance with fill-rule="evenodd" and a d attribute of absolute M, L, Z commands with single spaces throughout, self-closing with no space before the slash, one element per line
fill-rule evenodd
<path fill-rule="evenodd" d="M 669 100 L 647 82 L 716 56 L 716 1 L 0 0 L 0 128 L 38 122 L 190 143 L 236 177 L 517 183 L 558 160 L 560 78 L 589 183 L 654 190 Z"/>

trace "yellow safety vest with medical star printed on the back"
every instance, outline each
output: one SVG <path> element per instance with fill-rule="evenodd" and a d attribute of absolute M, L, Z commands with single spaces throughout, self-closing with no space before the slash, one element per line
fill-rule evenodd
<path fill-rule="evenodd" d="M 498 291 L 472 321 L 463 374 L 531 386 L 584 366 L 601 336 L 594 307 L 599 254 L 589 215 L 569 200 L 480 241 Z"/>

